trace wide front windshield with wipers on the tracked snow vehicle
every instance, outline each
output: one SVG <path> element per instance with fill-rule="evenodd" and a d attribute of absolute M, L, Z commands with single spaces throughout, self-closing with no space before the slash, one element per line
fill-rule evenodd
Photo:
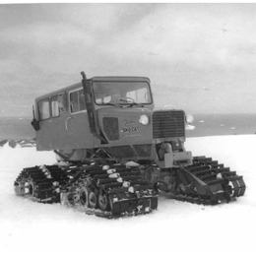
<path fill-rule="evenodd" d="M 147 82 L 94 82 L 96 104 L 151 104 Z"/>

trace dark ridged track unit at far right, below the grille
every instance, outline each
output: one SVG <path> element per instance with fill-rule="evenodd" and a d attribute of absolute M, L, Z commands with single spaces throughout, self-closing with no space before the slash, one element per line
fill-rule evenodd
<path fill-rule="evenodd" d="M 176 192 L 170 197 L 204 205 L 230 202 L 245 193 L 243 177 L 206 157 L 193 158 L 193 164 L 177 171 Z"/>

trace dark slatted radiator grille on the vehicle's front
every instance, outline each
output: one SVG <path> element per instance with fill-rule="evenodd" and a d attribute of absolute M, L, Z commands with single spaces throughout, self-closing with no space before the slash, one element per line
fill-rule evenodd
<path fill-rule="evenodd" d="M 153 113 L 153 138 L 185 137 L 185 113 L 180 110 Z"/>

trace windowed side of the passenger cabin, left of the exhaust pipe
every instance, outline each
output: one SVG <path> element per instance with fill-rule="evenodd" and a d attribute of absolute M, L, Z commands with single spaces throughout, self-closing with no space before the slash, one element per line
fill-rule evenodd
<path fill-rule="evenodd" d="M 82 88 L 41 98 L 37 108 L 38 151 L 94 148 L 95 138 L 90 131 Z"/>

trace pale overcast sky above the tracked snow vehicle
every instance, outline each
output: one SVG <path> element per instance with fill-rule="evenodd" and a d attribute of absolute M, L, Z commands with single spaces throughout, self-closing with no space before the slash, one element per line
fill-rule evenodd
<path fill-rule="evenodd" d="M 256 4 L 0 5 L 0 116 L 94 76 L 146 76 L 157 106 L 256 112 Z"/>

